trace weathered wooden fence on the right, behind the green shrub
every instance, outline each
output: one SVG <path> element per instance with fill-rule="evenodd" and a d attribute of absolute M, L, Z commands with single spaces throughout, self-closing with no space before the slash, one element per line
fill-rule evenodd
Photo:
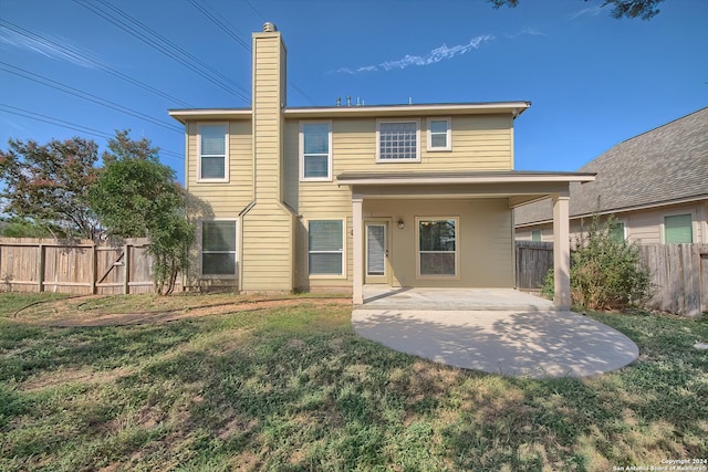
<path fill-rule="evenodd" d="M 708 312 L 708 244 L 639 244 L 654 296 L 647 308 L 691 318 Z M 553 243 L 517 241 L 517 287 L 538 291 L 553 266 Z"/>

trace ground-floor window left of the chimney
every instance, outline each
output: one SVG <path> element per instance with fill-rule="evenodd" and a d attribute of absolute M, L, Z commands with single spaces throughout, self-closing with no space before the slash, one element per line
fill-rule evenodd
<path fill-rule="evenodd" d="M 201 222 L 201 273 L 236 275 L 236 221 Z"/>

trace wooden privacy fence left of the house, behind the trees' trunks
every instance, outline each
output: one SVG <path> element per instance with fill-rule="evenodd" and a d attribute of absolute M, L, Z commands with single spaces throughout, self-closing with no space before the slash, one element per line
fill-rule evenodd
<path fill-rule="evenodd" d="M 145 238 L 121 244 L 0 238 L 0 291 L 127 294 L 153 292 Z"/>

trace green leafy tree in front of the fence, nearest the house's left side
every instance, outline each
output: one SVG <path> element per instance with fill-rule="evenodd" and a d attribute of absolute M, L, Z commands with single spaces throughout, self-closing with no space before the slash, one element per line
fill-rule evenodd
<path fill-rule="evenodd" d="M 127 130 L 108 140 L 103 161 L 90 191 L 92 208 L 110 235 L 149 238 L 156 291 L 171 293 L 188 266 L 195 234 L 175 171 L 158 161 L 158 148 L 148 139 L 134 141 Z"/>

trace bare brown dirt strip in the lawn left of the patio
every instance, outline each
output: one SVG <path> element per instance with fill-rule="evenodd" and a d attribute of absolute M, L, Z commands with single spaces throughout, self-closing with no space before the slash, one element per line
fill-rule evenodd
<path fill-rule="evenodd" d="M 177 310 L 132 312 L 132 313 L 103 313 L 98 310 L 81 310 L 86 301 L 95 301 L 105 296 L 90 295 L 58 301 L 43 302 L 27 306 L 14 314 L 14 319 L 40 326 L 55 327 L 88 327 L 88 326 L 129 326 L 143 324 L 167 323 L 185 318 L 222 315 L 238 312 L 252 312 L 258 310 L 277 308 L 281 306 L 311 305 L 346 305 L 351 298 L 335 297 L 293 297 L 293 298 L 266 298 L 242 300 L 230 303 L 219 303 L 205 306 L 189 306 Z"/>

